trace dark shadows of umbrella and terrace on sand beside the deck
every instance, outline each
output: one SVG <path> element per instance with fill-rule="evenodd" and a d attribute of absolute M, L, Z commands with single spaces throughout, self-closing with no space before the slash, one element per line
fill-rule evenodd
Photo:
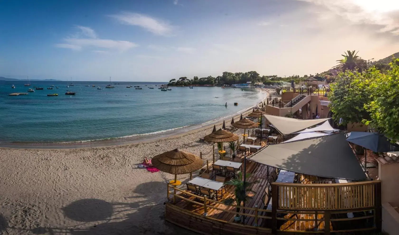
<path fill-rule="evenodd" d="M 81 199 L 62 208 L 69 219 L 83 222 L 69 227 L 38 227 L 34 234 L 191 234 L 176 225 L 164 222 L 165 182 L 147 182 L 133 190 L 126 202 Z M 129 202 L 134 198 L 135 202 Z M 96 223 L 98 221 L 98 223 Z M 194 234 L 194 233 L 192 233 Z"/>

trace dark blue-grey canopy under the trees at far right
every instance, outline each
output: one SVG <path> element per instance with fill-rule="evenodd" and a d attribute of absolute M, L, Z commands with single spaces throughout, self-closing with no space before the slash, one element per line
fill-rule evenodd
<path fill-rule="evenodd" d="M 377 132 L 352 131 L 346 141 L 374 152 L 389 152 L 392 150 L 390 140 Z"/>

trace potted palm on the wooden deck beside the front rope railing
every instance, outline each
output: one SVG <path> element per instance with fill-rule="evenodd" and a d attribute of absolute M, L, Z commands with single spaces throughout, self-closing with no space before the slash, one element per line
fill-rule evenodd
<path fill-rule="evenodd" d="M 245 181 L 245 183 L 244 183 L 243 172 L 239 171 L 239 172 L 237 172 L 237 174 L 238 174 L 237 178 L 233 178 L 224 183 L 225 185 L 233 185 L 234 186 L 234 197 L 226 198 L 222 202 L 226 206 L 233 206 L 234 204 L 236 205 L 237 214 L 234 216 L 234 220 L 240 221 L 241 215 L 238 214 L 240 212 L 239 206 L 241 206 L 241 203 L 249 202 L 249 200 L 251 200 L 251 197 L 247 195 L 247 192 L 253 192 L 253 193 L 255 193 L 255 192 L 253 190 L 251 190 L 249 188 L 249 186 L 251 186 L 251 184 L 255 184 L 255 183 L 259 182 L 259 180 L 255 180 L 252 182 Z M 246 178 L 249 178 L 249 176 L 251 176 L 251 174 L 249 174 L 249 173 L 246 174 Z"/>

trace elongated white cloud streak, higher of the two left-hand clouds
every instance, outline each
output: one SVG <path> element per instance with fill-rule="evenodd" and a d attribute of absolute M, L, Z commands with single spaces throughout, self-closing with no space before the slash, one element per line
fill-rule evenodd
<path fill-rule="evenodd" d="M 142 27 L 156 35 L 172 36 L 174 29 L 174 27 L 167 22 L 138 13 L 123 12 L 118 15 L 111 15 L 111 17 L 127 25 Z"/>

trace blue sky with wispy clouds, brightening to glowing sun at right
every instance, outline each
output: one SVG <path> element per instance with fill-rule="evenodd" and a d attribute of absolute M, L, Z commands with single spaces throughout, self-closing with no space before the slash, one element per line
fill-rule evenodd
<path fill-rule="evenodd" d="M 323 72 L 399 51 L 397 0 L 0 2 L 0 76 L 168 81 Z"/>

